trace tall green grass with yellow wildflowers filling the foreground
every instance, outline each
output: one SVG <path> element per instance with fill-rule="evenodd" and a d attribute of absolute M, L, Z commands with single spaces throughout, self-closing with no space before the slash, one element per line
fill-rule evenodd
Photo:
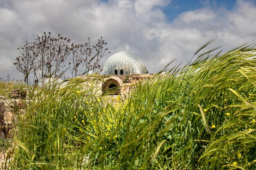
<path fill-rule="evenodd" d="M 5 168 L 256 169 L 256 49 L 210 52 L 126 99 L 83 78 L 46 85 L 18 117 Z"/>

